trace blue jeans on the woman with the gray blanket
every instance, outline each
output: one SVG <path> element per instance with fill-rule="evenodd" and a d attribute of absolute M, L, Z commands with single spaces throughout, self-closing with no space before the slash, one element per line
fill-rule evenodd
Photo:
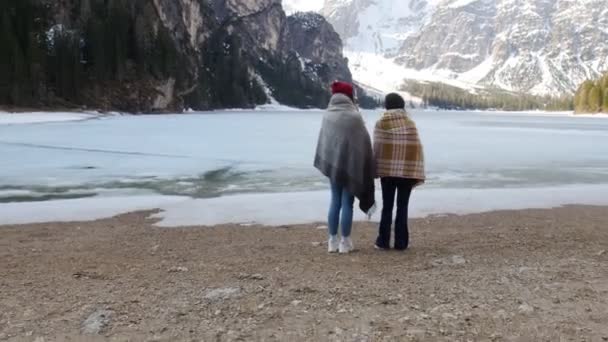
<path fill-rule="evenodd" d="M 353 227 L 353 204 L 355 196 L 338 184 L 331 184 L 331 204 L 329 206 L 329 235 L 338 235 L 338 226 L 342 221 L 342 237 L 349 237 Z M 340 212 L 342 218 L 340 218 Z"/>

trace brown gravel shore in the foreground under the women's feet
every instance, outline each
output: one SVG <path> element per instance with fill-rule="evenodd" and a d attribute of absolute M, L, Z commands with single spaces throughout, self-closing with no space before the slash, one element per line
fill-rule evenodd
<path fill-rule="evenodd" d="M 608 208 L 434 216 L 406 252 L 319 225 L 0 227 L 0 340 L 608 341 Z"/>

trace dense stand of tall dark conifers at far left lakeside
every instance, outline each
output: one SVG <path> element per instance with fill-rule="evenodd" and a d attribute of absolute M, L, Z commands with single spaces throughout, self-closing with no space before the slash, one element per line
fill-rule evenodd
<path fill-rule="evenodd" d="M 0 2 L 0 104 L 86 103 L 104 83 L 178 72 L 169 32 L 162 25 L 154 30 L 145 15 L 133 18 L 135 2 L 87 4 L 89 14 L 66 27 L 51 23 L 50 5 L 41 1 Z"/>

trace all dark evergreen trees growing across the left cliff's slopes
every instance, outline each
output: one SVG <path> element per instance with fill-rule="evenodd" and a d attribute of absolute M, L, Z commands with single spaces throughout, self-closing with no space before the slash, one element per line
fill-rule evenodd
<path fill-rule="evenodd" d="M 0 105 L 91 106 L 150 110 L 156 87 L 175 79 L 179 104 L 196 109 L 246 108 L 267 102 L 263 85 L 251 77 L 258 66 L 282 103 L 326 104 L 329 93 L 302 74 L 293 56 L 255 55 L 238 34 L 216 22 L 202 3 L 209 37 L 201 55 L 179 46 L 159 24 L 150 0 L 70 0 L 64 24 L 52 18 L 52 1 L 0 1 Z M 375 106 L 363 97 L 363 105 Z"/>

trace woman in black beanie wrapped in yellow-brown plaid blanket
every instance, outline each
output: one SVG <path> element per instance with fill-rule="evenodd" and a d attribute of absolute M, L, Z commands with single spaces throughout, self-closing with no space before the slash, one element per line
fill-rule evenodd
<path fill-rule="evenodd" d="M 398 94 L 385 99 L 386 113 L 374 129 L 376 178 L 381 179 L 382 218 L 376 248 L 389 249 L 395 194 L 395 249 L 409 246 L 408 207 L 415 186 L 424 183 L 424 153 L 416 124 L 405 111 L 405 101 Z"/>

